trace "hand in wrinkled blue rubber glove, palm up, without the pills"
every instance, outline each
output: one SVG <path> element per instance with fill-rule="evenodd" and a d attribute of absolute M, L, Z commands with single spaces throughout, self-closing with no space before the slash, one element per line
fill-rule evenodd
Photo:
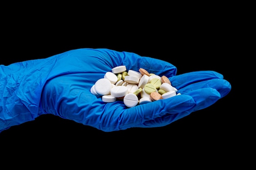
<path fill-rule="evenodd" d="M 131 108 L 122 101 L 105 103 L 90 88 L 119 65 L 165 75 L 182 95 Z M 106 132 L 165 126 L 213 105 L 231 90 L 214 71 L 176 73 L 175 66 L 159 59 L 90 48 L 0 65 L 0 132 L 47 113 Z"/>

